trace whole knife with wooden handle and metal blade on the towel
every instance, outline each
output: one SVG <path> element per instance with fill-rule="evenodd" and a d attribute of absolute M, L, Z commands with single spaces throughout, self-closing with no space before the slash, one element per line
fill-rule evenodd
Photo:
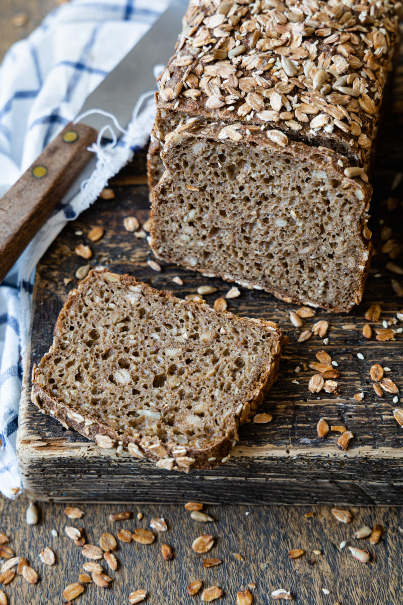
<path fill-rule="evenodd" d="M 140 95 L 155 89 L 153 66 L 166 65 L 188 0 L 173 0 L 134 48 L 87 97 L 77 115 L 97 108 L 126 128 Z M 0 199 L 0 283 L 94 154 L 88 146 L 108 123 L 100 114 L 69 122 Z"/>

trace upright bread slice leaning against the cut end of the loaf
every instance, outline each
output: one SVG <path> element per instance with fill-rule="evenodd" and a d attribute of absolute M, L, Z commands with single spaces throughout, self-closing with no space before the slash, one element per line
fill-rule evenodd
<path fill-rule="evenodd" d="M 348 311 L 369 269 L 370 186 L 329 149 L 267 135 L 193 120 L 166 137 L 153 251 L 286 302 Z"/>

